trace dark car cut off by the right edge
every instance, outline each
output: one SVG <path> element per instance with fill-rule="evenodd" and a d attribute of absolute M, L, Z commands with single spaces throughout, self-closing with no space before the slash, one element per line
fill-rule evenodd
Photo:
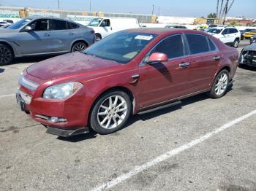
<path fill-rule="evenodd" d="M 256 67 L 256 42 L 252 42 L 241 50 L 239 66 Z"/>

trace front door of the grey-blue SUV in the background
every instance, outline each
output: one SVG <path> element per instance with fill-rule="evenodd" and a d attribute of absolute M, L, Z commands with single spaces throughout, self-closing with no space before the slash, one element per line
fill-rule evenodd
<path fill-rule="evenodd" d="M 38 19 L 30 23 L 31 31 L 20 31 L 17 36 L 18 44 L 20 45 L 23 55 L 40 54 L 51 52 L 51 39 L 48 19 Z"/>

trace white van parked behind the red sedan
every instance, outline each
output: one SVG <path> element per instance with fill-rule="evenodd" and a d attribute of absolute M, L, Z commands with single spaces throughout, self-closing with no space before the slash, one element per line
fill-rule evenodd
<path fill-rule="evenodd" d="M 140 28 L 140 23 L 136 18 L 99 17 L 91 20 L 87 26 L 94 29 L 96 40 L 99 41 L 117 31 Z"/>

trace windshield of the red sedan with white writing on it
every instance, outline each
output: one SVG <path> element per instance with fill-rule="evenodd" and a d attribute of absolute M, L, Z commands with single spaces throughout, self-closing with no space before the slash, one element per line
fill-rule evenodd
<path fill-rule="evenodd" d="M 156 36 L 157 34 L 121 31 L 100 40 L 84 53 L 109 61 L 128 63 Z"/>

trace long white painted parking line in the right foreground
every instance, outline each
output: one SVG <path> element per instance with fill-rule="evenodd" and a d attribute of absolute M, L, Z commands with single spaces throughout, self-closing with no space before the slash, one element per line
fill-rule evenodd
<path fill-rule="evenodd" d="M 99 187 L 95 187 L 92 191 L 106 190 L 106 189 L 110 189 L 111 187 L 115 187 L 117 184 L 124 182 L 125 180 L 131 178 L 132 176 L 135 176 L 136 174 L 139 174 L 140 172 L 146 170 L 147 168 L 151 168 L 151 166 L 157 165 L 162 161 L 169 159 L 170 157 L 178 155 L 178 153 L 180 152 L 184 152 L 187 149 L 195 147 L 197 144 L 200 144 L 203 141 L 210 139 L 212 136 L 215 136 L 221 133 L 223 130 L 227 128 L 233 127 L 233 125 L 236 125 L 238 122 L 246 120 L 248 117 L 251 117 L 254 114 L 256 114 L 256 110 L 249 112 L 248 114 L 245 114 L 241 117 L 238 117 L 236 120 L 227 122 L 225 125 L 222 125 L 220 128 L 217 128 L 216 130 L 213 130 L 210 133 L 206 133 L 204 136 L 200 136 L 200 138 L 195 139 L 194 141 L 184 144 L 181 147 L 178 147 L 176 149 L 170 150 L 169 152 L 165 152 L 165 154 L 162 154 L 159 157 L 156 157 L 153 160 L 147 163 L 144 163 L 143 165 L 135 166 L 135 168 L 133 168 L 128 173 L 122 174 L 121 176 L 118 176 L 116 179 L 113 179 L 105 184 L 102 184 Z"/>

